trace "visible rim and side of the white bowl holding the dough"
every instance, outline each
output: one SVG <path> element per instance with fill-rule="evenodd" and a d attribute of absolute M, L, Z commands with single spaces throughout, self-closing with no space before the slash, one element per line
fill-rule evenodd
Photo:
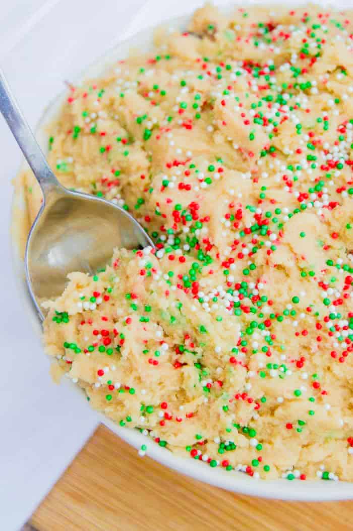
<path fill-rule="evenodd" d="M 297 5 L 300 3 L 303 2 L 297 2 Z M 274 4 L 273 1 L 272 4 Z M 343 4 L 344 2 L 340 2 L 340 5 L 343 6 Z M 230 8 L 228 8 L 228 11 L 229 10 Z M 225 11 L 227 11 L 227 9 Z M 189 19 L 190 16 L 183 16 L 170 20 L 169 24 L 175 29 L 185 29 Z M 95 61 L 73 81 L 78 82 L 82 79 L 102 74 L 105 68 L 114 63 L 116 59 L 123 59 L 126 57 L 131 47 L 150 49 L 152 47 L 152 35 L 153 28 L 149 28 L 137 33 L 135 36 L 125 41 L 119 42 L 114 49 L 109 50 L 107 54 L 98 59 L 98 61 Z M 51 102 L 37 126 L 37 139 L 45 152 L 47 152 L 48 146 L 48 137 L 45 128 L 57 115 L 65 96 L 66 93 L 62 93 Z M 24 194 L 21 189 L 16 190 L 13 200 L 13 262 L 16 276 L 19 279 L 19 289 L 23 297 L 23 304 L 28 310 L 29 318 L 33 322 L 33 327 L 35 327 L 36 333 L 40 334 L 41 324 L 29 298 L 27 285 L 25 283 L 24 265 L 18 241 L 20 227 L 18 226 L 18 215 L 16 215 L 16 213 L 18 213 L 19 209 L 21 211 L 25 209 Z M 67 392 L 83 393 L 83 391 L 72 383 L 71 380 L 64 379 L 62 384 L 67 386 Z M 235 471 L 226 472 L 226 470 L 220 467 L 210 468 L 206 464 L 191 459 L 190 457 L 183 458 L 174 455 L 166 448 L 158 446 L 158 444 L 152 441 L 151 438 L 142 435 L 137 430 L 120 427 L 104 415 L 99 415 L 98 417 L 102 424 L 105 424 L 111 431 L 115 432 L 119 437 L 135 448 L 140 448 L 142 444 L 147 444 L 147 455 L 162 465 L 166 465 L 169 468 L 177 470 L 177 472 L 199 479 L 205 483 L 221 487 L 228 491 L 281 500 L 331 501 L 353 499 L 353 485 L 351 483 L 333 481 L 288 481 L 287 479 L 264 481 L 262 479 L 251 478 Z"/>

